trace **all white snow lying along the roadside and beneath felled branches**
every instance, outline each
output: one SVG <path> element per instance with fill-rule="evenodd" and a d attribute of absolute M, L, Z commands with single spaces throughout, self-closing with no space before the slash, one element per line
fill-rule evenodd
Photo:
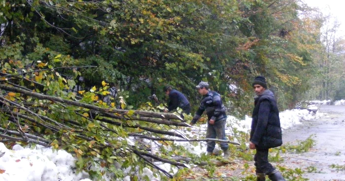
<path fill-rule="evenodd" d="M 343 100 L 339 104 L 343 105 L 344 102 Z M 315 108 L 317 107 L 313 106 L 309 109 Z M 279 113 L 283 130 L 301 124 L 302 121 L 309 121 L 322 116 L 324 115 L 318 112 L 312 113 L 307 109 L 286 110 Z M 234 128 L 248 132 L 250 125 L 251 118 L 248 116 L 245 116 L 243 120 L 228 116 L 226 133 L 233 134 Z M 191 131 L 181 129 L 179 132 L 183 131 L 188 137 L 201 137 L 205 135 L 206 128 L 207 124 L 202 124 L 194 126 Z M 189 142 L 178 142 L 178 144 L 195 154 L 202 154 L 206 151 L 206 143 L 200 143 L 199 146 L 192 146 Z M 8 150 L 3 143 L 0 143 L 0 151 L 4 152 L 4 155 L 0 157 L 0 181 L 91 181 L 86 172 L 75 173 L 75 158 L 63 150 L 53 151 L 51 148 L 40 146 L 29 149 L 20 145 L 15 145 L 12 150 Z M 171 169 L 170 164 L 162 164 L 161 167 L 167 171 Z M 174 173 L 177 172 L 177 169 L 172 169 Z M 144 175 L 149 176 L 152 180 L 158 180 L 149 169 L 142 173 L 142 177 Z M 105 180 L 109 179 L 106 178 Z M 128 176 L 123 181 L 129 180 Z"/>

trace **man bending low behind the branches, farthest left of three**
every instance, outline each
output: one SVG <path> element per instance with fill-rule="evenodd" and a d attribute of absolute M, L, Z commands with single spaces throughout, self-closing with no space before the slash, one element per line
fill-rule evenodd
<path fill-rule="evenodd" d="M 179 107 L 187 115 L 190 114 L 190 104 L 186 96 L 183 95 L 183 93 L 174 90 L 173 87 L 169 85 L 165 86 L 163 88 L 163 91 L 165 92 L 166 95 L 169 96 L 168 111 L 173 111 L 177 109 L 177 107 Z M 165 111 L 165 112 L 168 112 L 168 111 Z M 183 118 L 182 113 L 181 113 L 181 116 Z"/>

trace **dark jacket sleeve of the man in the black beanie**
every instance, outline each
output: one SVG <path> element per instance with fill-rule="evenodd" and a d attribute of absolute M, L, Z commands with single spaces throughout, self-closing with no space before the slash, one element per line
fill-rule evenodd
<path fill-rule="evenodd" d="M 255 127 L 254 134 L 250 140 L 250 142 L 254 143 L 255 145 L 259 145 L 261 137 L 264 135 L 266 131 L 269 115 L 270 101 L 264 100 L 260 103 L 258 121 Z"/>

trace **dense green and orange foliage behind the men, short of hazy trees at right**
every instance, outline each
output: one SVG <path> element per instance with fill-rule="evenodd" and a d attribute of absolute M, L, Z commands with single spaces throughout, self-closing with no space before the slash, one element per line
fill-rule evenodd
<path fill-rule="evenodd" d="M 197 106 L 193 88 L 208 81 L 240 114 L 250 110 L 250 82 L 256 75 L 267 77 L 281 108 L 292 107 L 308 88 L 304 68 L 312 64 L 312 34 L 298 17 L 305 9 L 295 0 L 2 4 L 1 60 L 23 60 L 26 66 L 38 60 L 54 67 L 95 65 L 81 70 L 83 79 L 76 78 L 76 84 L 90 89 L 104 80 L 134 108 L 153 93 L 163 99 L 165 84 Z"/>

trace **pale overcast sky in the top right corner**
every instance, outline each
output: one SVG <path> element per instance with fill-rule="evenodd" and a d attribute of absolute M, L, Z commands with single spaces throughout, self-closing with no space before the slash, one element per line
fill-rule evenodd
<path fill-rule="evenodd" d="M 331 13 L 341 23 L 339 31 L 345 36 L 345 0 L 304 0 L 310 7 L 318 7 L 324 15 Z"/>

